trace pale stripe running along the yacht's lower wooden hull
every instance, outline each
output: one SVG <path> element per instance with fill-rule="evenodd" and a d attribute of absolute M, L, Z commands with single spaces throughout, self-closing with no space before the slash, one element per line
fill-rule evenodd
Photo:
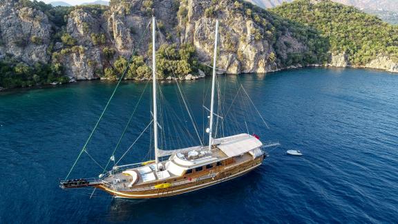
<path fill-rule="evenodd" d="M 226 180 L 229 180 L 229 179 L 231 179 L 231 178 L 233 178 L 233 177 L 235 177 L 235 176 L 240 176 L 240 174 L 243 174 L 243 173 L 245 173 L 245 172 L 251 171 L 252 169 L 256 169 L 256 168 L 259 167 L 260 165 L 261 165 L 261 163 L 260 163 L 259 165 L 256 165 L 255 167 L 252 167 L 252 168 L 250 168 L 250 169 L 246 169 L 245 171 L 241 171 L 241 172 L 239 172 L 239 173 L 237 173 L 237 174 L 234 174 L 234 175 L 228 176 L 228 177 L 226 177 L 226 178 L 224 178 L 224 179 L 221 179 L 221 181 L 220 181 L 220 180 L 217 180 L 215 183 L 205 183 L 205 184 L 202 184 L 202 185 L 196 185 L 196 186 L 193 186 L 193 187 L 187 187 L 187 188 L 184 188 L 184 189 L 178 189 L 178 190 L 176 190 L 176 191 L 169 192 L 169 193 L 165 193 L 165 194 L 172 194 L 172 193 L 175 193 L 175 192 L 186 191 L 187 189 L 192 189 L 192 188 L 198 188 L 198 189 L 200 189 L 200 188 L 203 188 L 203 187 L 209 187 L 209 186 L 211 186 L 211 185 L 216 185 L 216 184 L 218 184 L 218 183 L 225 182 Z M 202 187 L 202 186 L 203 186 L 203 187 Z M 160 195 L 164 195 L 164 193 L 159 193 L 159 194 L 124 194 L 124 193 L 122 193 L 122 192 L 113 191 L 113 190 L 108 189 L 108 188 L 106 188 L 106 190 L 107 190 L 108 192 L 112 192 L 112 193 L 114 193 L 114 194 L 117 194 L 117 196 L 115 196 L 116 198 L 131 198 L 131 197 L 145 197 L 145 196 L 160 196 Z M 193 189 L 193 190 L 190 190 L 190 191 L 187 191 L 187 192 L 182 192 L 182 193 L 180 193 L 180 194 L 184 194 L 184 193 L 188 193 L 188 192 L 193 192 L 193 191 L 195 191 L 195 190 L 197 190 L 197 189 Z M 122 196 L 126 196 L 126 197 L 122 197 Z"/>

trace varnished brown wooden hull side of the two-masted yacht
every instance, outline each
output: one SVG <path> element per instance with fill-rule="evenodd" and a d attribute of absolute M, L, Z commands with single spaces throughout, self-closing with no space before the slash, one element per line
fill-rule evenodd
<path fill-rule="evenodd" d="M 263 157 L 256 158 L 255 160 L 251 160 L 245 162 L 242 165 L 238 165 L 236 167 L 231 167 L 231 169 L 225 169 L 221 171 L 213 178 L 207 178 L 204 180 L 194 180 L 191 183 L 187 183 L 185 185 L 172 186 L 165 189 L 151 189 L 147 191 L 137 191 L 137 192 L 124 192 L 117 191 L 115 189 L 110 189 L 105 185 L 97 185 L 97 188 L 112 194 L 117 198 L 163 198 L 168 196 L 175 196 L 178 194 L 184 194 L 188 192 L 193 192 L 198 189 L 202 189 L 205 187 L 209 187 L 212 185 L 216 185 L 218 183 L 225 182 L 227 180 L 231 180 L 237 178 L 238 176 L 242 176 L 247 174 L 249 171 L 256 169 L 263 162 Z"/>

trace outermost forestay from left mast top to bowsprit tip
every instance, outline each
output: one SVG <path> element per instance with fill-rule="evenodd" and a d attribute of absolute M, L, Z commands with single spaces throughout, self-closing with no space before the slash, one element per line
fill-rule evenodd
<path fill-rule="evenodd" d="M 151 23 L 149 23 L 149 24 L 151 24 Z M 148 30 L 149 24 L 146 25 L 146 28 L 145 28 L 144 32 L 142 33 L 142 35 L 141 35 L 141 37 L 140 37 L 140 40 L 138 41 L 138 45 L 137 45 L 137 46 L 140 46 L 141 41 L 142 41 L 142 39 L 143 39 L 143 37 L 144 37 L 144 34 L 146 33 L 146 30 Z M 72 167 L 70 168 L 70 170 L 69 170 L 69 172 L 68 172 L 68 175 L 66 175 L 65 180 L 68 179 L 70 173 L 71 173 L 71 172 L 73 171 L 73 169 L 75 168 L 75 165 L 77 164 L 77 161 L 79 160 L 79 158 L 82 156 L 83 152 L 86 152 L 86 153 L 87 153 L 87 151 L 86 151 L 87 144 L 88 144 L 88 142 L 90 142 L 91 138 L 93 137 L 93 134 L 94 134 L 95 130 L 97 129 L 99 122 L 101 122 L 102 117 L 104 117 L 104 113 L 105 113 L 106 109 L 108 109 L 108 106 L 109 106 L 109 104 L 111 103 L 111 100 L 113 99 L 113 96 L 115 95 L 115 93 L 116 93 L 116 91 L 117 91 L 117 88 L 119 88 L 120 83 L 122 82 L 124 76 L 126 75 L 127 71 L 129 70 L 129 66 L 130 66 L 131 62 L 133 61 L 133 57 L 134 57 L 136 51 L 137 51 L 137 48 L 134 48 L 133 54 L 131 54 L 131 57 L 130 57 L 130 59 L 129 59 L 129 62 L 127 63 L 126 69 L 124 69 L 124 72 L 122 73 L 122 76 L 120 77 L 119 81 L 117 82 L 117 84 L 116 84 L 116 86 L 115 86 L 115 89 L 114 89 L 113 92 L 112 92 L 111 97 L 109 97 L 109 100 L 108 100 L 108 102 L 106 103 L 106 106 L 104 107 L 104 110 L 102 111 L 101 115 L 99 116 L 99 118 L 98 118 L 98 120 L 97 120 L 97 122 L 96 122 L 96 124 L 95 124 L 95 126 L 94 126 L 94 128 L 93 128 L 93 130 L 92 130 L 91 133 L 90 133 L 90 136 L 88 136 L 88 139 L 86 140 L 86 143 L 84 143 L 84 146 L 83 146 L 82 150 L 80 151 L 80 153 L 79 153 L 79 155 L 77 156 L 75 162 L 73 163 Z"/>

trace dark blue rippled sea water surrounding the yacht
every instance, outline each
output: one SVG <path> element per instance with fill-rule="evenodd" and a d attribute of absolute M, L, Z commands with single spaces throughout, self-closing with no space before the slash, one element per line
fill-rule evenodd
<path fill-rule="evenodd" d="M 202 96 L 209 81 L 182 83 L 205 139 Z M 115 84 L 81 82 L 0 93 L 0 223 L 398 221 L 397 75 L 312 68 L 227 76 L 220 78 L 227 93 L 222 99 L 228 102 L 238 84 L 245 86 L 269 124 L 266 129 L 260 118 L 250 116 L 249 128 L 256 129 L 262 140 L 279 140 L 282 146 L 247 176 L 155 200 L 114 199 L 102 192 L 89 199 L 90 190 L 58 187 Z M 106 164 L 144 87 L 122 84 L 99 124 L 88 151 L 101 165 Z M 182 146 L 198 144 L 189 118 L 178 115 L 183 108 L 178 106 L 175 85 L 162 84 L 162 94 L 164 110 L 176 112 L 164 115 L 165 131 L 173 127 L 170 120 L 189 130 L 164 139 Z M 142 100 L 117 158 L 149 122 L 149 94 Z M 178 119 L 173 120 L 173 115 Z M 122 162 L 151 158 L 149 138 L 150 133 L 144 133 Z M 165 142 L 164 148 L 173 147 Z M 299 149 L 304 156 L 286 156 L 287 149 Z M 71 177 L 93 177 L 100 171 L 84 154 Z"/>

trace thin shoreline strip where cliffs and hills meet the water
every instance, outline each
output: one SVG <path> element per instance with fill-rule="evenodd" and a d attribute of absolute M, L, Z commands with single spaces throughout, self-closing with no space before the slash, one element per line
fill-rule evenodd
<path fill-rule="evenodd" d="M 345 68 L 352 68 L 352 69 L 366 69 L 366 70 L 372 70 L 372 71 L 383 71 L 386 73 L 390 73 L 391 75 L 398 75 L 398 72 L 392 72 L 392 71 L 388 71 L 386 69 L 380 69 L 380 68 L 368 68 L 366 66 L 345 66 L 345 67 L 340 67 L 340 66 L 330 66 L 330 65 L 319 65 L 319 64 L 311 64 L 311 65 L 307 65 L 307 66 L 288 66 L 286 68 L 277 68 L 274 69 L 272 71 L 267 71 L 266 73 L 258 73 L 258 74 L 271 74 L 271 73 L 277 73 L 280 71 L 289 71 L 289 70 L 296 70 L 296 69 L 301 69 L 301 68 L 341 68 L 341 69 L 345 69 Z M 239 74 L 228 74 L 228 73 L 223 73 L 223 74 L 218 74 L 218 75 L 247 75 L 247 74 L 254 74 L 254 73 L 239 73 Z M 174 80 L 178 81 L 178 82 L 191 82 L 191 81 L 195 81 L 195 80 L 201 80 L 204 79 L 206 77 L 208 77 L 209 75 L 205 75 L 205 76 L 197 76 L 195 78 L 192 78 L 191 80 L 186 80 L 186 79 L 169 79 L 169 77 L 164 78 L 159 80 L 161 83 L 171 83 Z M 145 79 L 145 80 L 122 80 L 122 82 L 135 82 L 135 83 L 139 83 L 139 82 L 146 82 L 148 80 L 152 80 L 152 79 Z M 15 87 L 15 88 L 3 88 L 0 86 L 0 93 L 6 93 L 9 91 L 13 91 L 13 90 L 21 90 L 21 89 L 26 89 L 26 90 L 30 90 L 30 89 L 39 89 L 39 88 L 57 88 L 59 86 L 68 86 L 70 84 L 74 84 L 77 82 L 108 82 L 108 83 L 116 83 L 118 80 L 106 80 L 106 79 L 101 79 L 101 78 L 96 78 L 96 79 L 92 79 L 92 80 L 75 80 L 75 82 L 67 82 L 64 84 L 44 84 L 44 85 L 38 85 L 38 86 L 23 86 L 23 87 Z"/>

